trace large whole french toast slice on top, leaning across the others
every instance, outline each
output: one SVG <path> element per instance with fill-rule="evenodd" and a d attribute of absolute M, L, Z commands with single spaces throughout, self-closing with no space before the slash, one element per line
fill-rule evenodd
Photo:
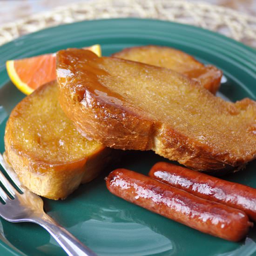
<path fill-rule="evenodd" d="M 214 96 L 167 68 L 68 49 L 57 53 L 61 108 L 105 146 L 149 150 L 189 168 L 229 170 L 256 157 L 256 102 Z"/>

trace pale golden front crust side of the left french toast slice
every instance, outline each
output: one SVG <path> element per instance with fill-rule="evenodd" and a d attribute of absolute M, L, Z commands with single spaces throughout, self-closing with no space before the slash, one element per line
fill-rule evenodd
<path fill-rule="evenodd" d="M 5 159 L 15 170 L 20 182 L 35 194 L 53 200 L 64 200 L 81 183 L 96 178 L 109 162 L 109 157 L 109 148 L 102 147 L 94 155 L 77 162 L 49 164 L 20 155 L 8 146 L 5 151 Z"/>

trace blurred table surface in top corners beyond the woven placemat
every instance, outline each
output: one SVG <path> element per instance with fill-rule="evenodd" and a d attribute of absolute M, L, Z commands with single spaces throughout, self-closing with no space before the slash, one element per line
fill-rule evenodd
<path fill-rule="evenodd" d="M 50 11 L 54 7 L 86 1 L 93 0 L 0 0 L 0 25 L 34 13 Z M 198 0 L 189 1 L 198 2 Z M 256 0 L 204 0 L 204 2 L 256 15 Z"/>

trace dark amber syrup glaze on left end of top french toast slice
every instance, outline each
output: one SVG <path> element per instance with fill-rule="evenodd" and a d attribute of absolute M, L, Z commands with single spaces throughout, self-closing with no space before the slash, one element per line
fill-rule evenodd
<path fill-rule="evenodd" d="M 58 79 L 61 81 L 67 79 L 67 86 L 69 86 L 69 82 L 75 84 L 74 94 L 84 92 L 83 95 L 81 94 L 81 101 L 89 102 L 90 94 L 99 96 L 108 103 L 120 104 L 123 101 L 120 94 L 101 84 L 101 76 L 108 76 L 109 74 L 102 68 L 102 59 L 98 58 L 96 54 L 88 50 L 81 52 L 79 49 L 71 49 L 68 52 L 60 51 L 58 56 L 59 62 L 62 63 L 56 69 Z"/>

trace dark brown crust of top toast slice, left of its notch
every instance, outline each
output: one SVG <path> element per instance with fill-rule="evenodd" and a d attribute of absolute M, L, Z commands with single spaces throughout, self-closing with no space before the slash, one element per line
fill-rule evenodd
<path fill-rule="evenodd" d="M 60 104 L 66 115 L 81 129 L 84 136 L 117 149 L 149 150 L 152 148 L 154 122 L 126 108 L 116 108 L 90 92 L 87 101 L 73 101 L 68 88 L 61 90 Z M 84 118 L 86 116 L 86 118 Z"/>

